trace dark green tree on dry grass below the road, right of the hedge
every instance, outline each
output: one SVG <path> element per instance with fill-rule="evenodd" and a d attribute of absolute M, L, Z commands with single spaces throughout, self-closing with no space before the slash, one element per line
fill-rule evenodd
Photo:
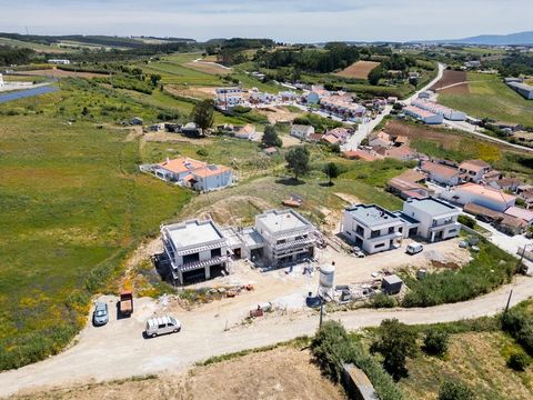
<path fill-rule="evenodd" d="M 383 356 L 383 368 L 395 381 L 408 377 L 405 359 L 416 349 L 416 333 L 396 319 L 383 320 L 371 352 Z"/>

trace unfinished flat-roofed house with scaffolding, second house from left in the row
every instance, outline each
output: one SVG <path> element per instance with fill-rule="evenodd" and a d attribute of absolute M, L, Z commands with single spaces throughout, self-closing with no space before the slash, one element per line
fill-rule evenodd
<path fill-rule="evenodd" d="M 264 241 L 263 257 L 274 267 L 314 256 L 316 228 L 292 209 L 257 216 L 254 230 Z"/>

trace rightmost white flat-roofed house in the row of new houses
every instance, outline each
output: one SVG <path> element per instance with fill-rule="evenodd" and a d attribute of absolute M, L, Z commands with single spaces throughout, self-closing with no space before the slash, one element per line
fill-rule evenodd
<path fill-rule="evenodd" d="M 405 201 L 403 213 L 420 222 L 418 234 L 430 242 L 455 238 L 461 230 L 457 222 L 460 210 L 431 197 Z"/>

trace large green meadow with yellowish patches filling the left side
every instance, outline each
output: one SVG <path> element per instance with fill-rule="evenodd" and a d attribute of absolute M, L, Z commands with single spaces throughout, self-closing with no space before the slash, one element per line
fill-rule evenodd
<path fill-rule="evenodd" d="M 0 369 L 66 346 L 90 296 L 115 291 L 108 283 L 127 252 L 190 198 L 138 172 L 128 130 L 63 117 L 81 101 L 95 111 L 112 100 L 78 88 L 10 103 L 27 116 L 0 117 Z"/>

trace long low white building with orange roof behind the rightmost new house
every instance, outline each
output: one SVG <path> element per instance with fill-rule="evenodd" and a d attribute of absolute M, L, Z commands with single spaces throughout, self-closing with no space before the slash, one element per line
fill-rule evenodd
<path fill-rule="evenodd" d="M 516 201 L 515 196 L 477 183 L 464 183 L 444 190 L 440 193 L 440 198 L 462 206 L 474 203 L 500 212 L 513 207 Z"/>

